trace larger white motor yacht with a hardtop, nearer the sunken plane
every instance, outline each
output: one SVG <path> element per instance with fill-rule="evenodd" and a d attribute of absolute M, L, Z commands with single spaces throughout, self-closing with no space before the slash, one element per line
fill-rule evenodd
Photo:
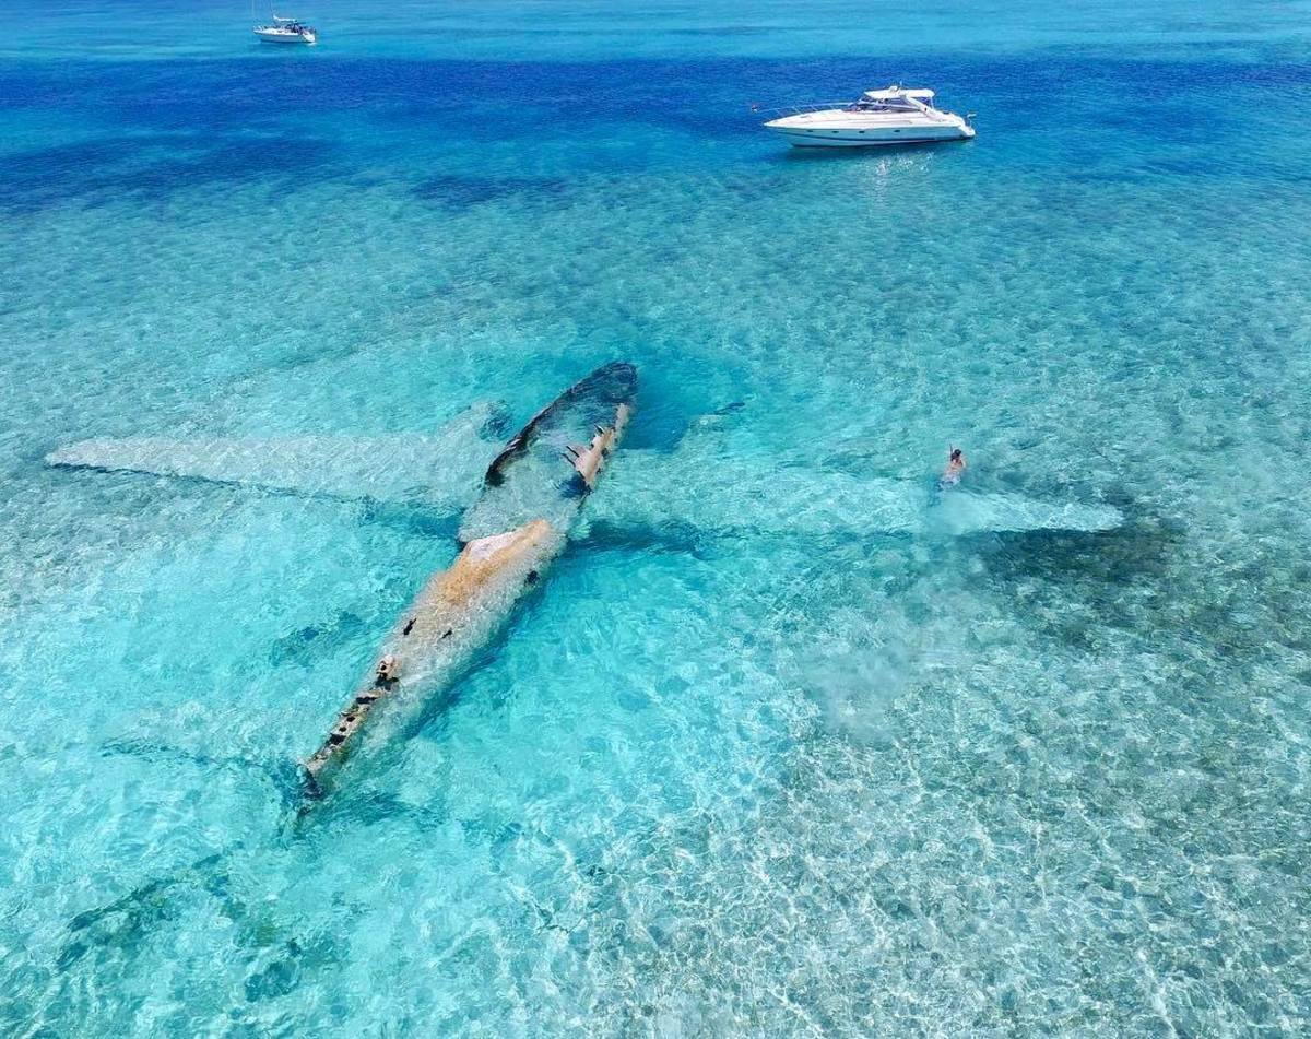
<path fill-rule="evenodd" d="M 839 108 L 797 110 L 771 119 L 770 130 L 798 148 L 860 148 L 872 144 L 918 144 L 928 140 L 964 140 L 974 136 L 968 115 L 933 108 L 932 91 L 865 91 Z"/>

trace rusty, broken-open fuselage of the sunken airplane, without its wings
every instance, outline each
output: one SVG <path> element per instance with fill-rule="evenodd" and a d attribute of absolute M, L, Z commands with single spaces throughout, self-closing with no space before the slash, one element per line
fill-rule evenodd
<path fill-rule="evenodd" d="M 564 548 L 574 514 L 619 445 L 636 391 L 632 365 L 606 365 L 538 412 L 496 458 L 460 525 L 460 554 L 401 614 L 305 762 L 312 790 L 330 784 L 366 743 L 422 712 L 496 635 Z"/>

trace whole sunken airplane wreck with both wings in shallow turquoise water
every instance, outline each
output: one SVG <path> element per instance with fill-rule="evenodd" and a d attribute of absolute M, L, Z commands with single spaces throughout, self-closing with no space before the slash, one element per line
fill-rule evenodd
<path fill-rule="evenodd" d="M 695 420 L 671 449 L 629 453 L 606 496 L 576 522 L 624 434 L 636 392 L 632 365 L 606 365 L 509 442 L 505 408 L 477 404 L 429 436 L 93 439 L 52 451 L 46 462 L 459 514 L 459 555 L 401 613 L 305 762 L 311 792 L 330 788 L 347 758 L 384 745 L 459 678 L 570 531 L 578 537 L 587 523 L 650 537 L 691 530 L 697 540 L 737 540 L 1097 533 L 1125 521 L 1106 504 L 978 489 L 929 496 L 923 480 L 851 471 L 809 455 L 743 451 L 722 437 L 734 421 L 730 413 L 739 411 L 734 407 Z"/>

